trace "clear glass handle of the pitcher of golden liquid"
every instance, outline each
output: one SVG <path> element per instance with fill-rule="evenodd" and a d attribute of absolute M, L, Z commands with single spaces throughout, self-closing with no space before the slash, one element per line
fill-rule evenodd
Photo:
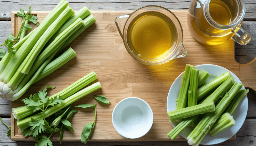
<path fill-rule="evenodd" d="M 231 30 L 235 35 L 232 36 L 232 40 L 236 41 L 240 45 L 246 45 L 251 41 L 251 36 L 240 26 L 236 26 Z"/>

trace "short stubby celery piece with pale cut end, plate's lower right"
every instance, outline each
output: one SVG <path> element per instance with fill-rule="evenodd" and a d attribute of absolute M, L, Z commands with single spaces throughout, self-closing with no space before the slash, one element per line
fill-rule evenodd
<path fill-rule="evenodd" d="M 219 119 L 214 123 L 211 130 L 209 131 L 209 133 L 212 136 L 236 124 L 236 121 L 233 119 L 233 116 L 231 116 L 230 113 L 228 112 L 221 115 Z"/>

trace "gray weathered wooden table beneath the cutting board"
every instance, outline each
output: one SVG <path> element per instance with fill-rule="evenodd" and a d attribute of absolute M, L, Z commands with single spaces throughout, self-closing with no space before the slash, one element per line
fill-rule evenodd
<path fill-rule="evenodd" d="M 159 5 L 169 10 L 188 10 L 192 0 L 68 0 L 73 10 L 79 10 L 86 5 L 89 10 L 135 10 L 145 5 Z M 7 38 L 6 35 L 11 33 L 11 11 L 19 11 L 20 8 L 27 10 L 31 6 L 32 11 L 52 10 L 59 0 L 0 0 L 0 44 Z M 245 0 L 246 13 L 242 27 L 249 32 L 252 40 L 246 46 L 235 44 L 235 58 L 238 63 L 246 64 L 256 57 L 256 1 Z M 236 134 L 235 141 L 226 141 L 220 145 L 235 146 L 256 146 L 256 96 L 255 91 L 248 93 L 248 112 L 245 122 Z M 0 116 L 10 125 L 11 119 L 11 102 L 0 98 Z M 15 142 L 6 136 L 8 128 L 0 122 L 0 146 L 11 145 L 34 145 L 34 142 Z M 59 142 L 53 142 L 54 145 L 60 145 Z M 62 142 L 62 145 L 84 145 L 82 142 Z M 88 142 L 86 145 L 188 145 L 184 142 Z"/>

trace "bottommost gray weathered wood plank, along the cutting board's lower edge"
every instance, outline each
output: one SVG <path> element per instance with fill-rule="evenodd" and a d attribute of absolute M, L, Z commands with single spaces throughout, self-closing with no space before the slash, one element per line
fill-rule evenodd
<path fill-rule="evenodd" d="M 3 118 L 3 120 L 6 122 L 6 124 L 10 125 L 11 119 L 10 118 Z M 235 141 L 225 141 L 220 144 L 216 144 L 214 146 L 223 146 L 223 145 L 229 145 L 229 146 L 253 146 L 256 142 L 256 127 L 255 127 L 256 119 L 245 119 L 243 126 L 241 129 L 236 133 L 236 140 Z M 14 142 L 9 139 L 9 137 L 6 136 L 8 128 L 5 127 L 0 122 L 0 146 L 18 146 L 18 145 L 26 145 L 26 146 L 33 146 L 34 142 Z M 53 145 L 60 145 L 59 142 L 53 142 Z M 62 145 L 64 146 L 84 146 L 84 143 L 82 142 L 62 142 Z M 126 145 L 143 145 L 143 146 L 186 146 L 188 143 L 186 141 L 183 142 L 175 142 L 175 141 L 169 141 L 169 142 L 87 142 L 86 146 L 106 146 L 106 145 L 120 145 L 120 146 L 126 146 Z M 203 146 L 203 145 L 200 145 Z"/>

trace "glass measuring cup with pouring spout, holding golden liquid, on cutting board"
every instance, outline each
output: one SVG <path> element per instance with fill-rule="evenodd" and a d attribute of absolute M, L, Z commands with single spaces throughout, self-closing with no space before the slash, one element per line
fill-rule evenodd
<path fill-rule="evenodd" d="M 187 54 L 180 21 L 168 9 L 145 6 L 117 16 L 115 23 L 126 50 L 142 64 L 160 65 Z"/>

